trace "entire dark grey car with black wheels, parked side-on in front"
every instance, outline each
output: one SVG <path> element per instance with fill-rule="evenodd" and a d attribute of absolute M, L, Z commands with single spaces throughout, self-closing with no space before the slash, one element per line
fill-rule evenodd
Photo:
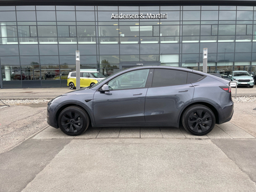
<path fill-rule="evenodd" d="M 92 127 L 179 127 L 195 135 L 233 115 L 229 81 L 179 67 L 135 67 L 51 100 L 47 123 L 70 136 Z"/>

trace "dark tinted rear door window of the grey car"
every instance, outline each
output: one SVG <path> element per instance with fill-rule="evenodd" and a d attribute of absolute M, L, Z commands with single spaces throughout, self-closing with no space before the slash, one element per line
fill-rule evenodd
<path fill-rule="evenodd" d="M 172 86 L 187 83 L 187 72 L 170 69 L 155 69 L 152 86 Z"/>

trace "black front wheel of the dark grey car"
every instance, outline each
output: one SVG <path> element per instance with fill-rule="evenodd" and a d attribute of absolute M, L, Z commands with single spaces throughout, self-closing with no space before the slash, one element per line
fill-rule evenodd
<path fill-rule="evenodd" d="M 82 134 L 90 124 L 90 118 L 84 109 L 70 106 L 61 111 L 58 124 L 62 132 L 70 136 Z"/>

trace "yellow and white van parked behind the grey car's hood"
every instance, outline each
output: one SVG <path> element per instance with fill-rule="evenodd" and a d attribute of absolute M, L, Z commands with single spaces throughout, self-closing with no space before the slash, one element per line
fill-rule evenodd
<path fill-rule="evenodd" d="M 105 79 L 105 76 L 100 74 L 97 71 L 81 71 L 80 72 L 80 86 L 87 87 L 93 86 L 93 84 L 98 83 L 102 79 Z M 69 72 L 68 74 L 68 83 L 70 90 L 76 89 L 76 72 Z"/>

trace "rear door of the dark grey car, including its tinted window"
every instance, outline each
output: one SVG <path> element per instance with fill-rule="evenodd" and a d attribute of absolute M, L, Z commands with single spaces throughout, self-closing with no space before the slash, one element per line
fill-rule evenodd
<path fill-rule="evenodd" d="M 155 69 L 145 102 L 145 122 L 177 125 L 180 110 L 193 99 L 194 87 L 187 84 L 188 72 Z"/>

